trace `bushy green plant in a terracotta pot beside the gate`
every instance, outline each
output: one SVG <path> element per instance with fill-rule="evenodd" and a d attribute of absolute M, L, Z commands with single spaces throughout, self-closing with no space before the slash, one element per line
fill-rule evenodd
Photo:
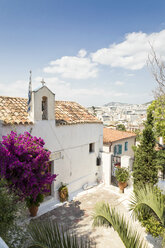
<path fill-rule="evenodd" d="M 129 171 L 126 168 L 117 168 L 115 171 L 115 176 L 118 181 L 118 186 L 120 188 L 120 193 L 124 193 L 124 188 L 127 186 L 127 181 L 129 179 Z"/>

